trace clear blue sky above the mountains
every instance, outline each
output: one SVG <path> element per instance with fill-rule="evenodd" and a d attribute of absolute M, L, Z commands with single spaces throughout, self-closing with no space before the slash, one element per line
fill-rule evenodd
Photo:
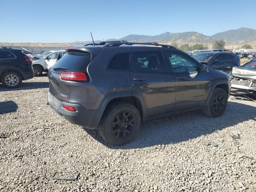
<path fill-rule="evenodd" d="M 244 6 L 246 4 L 246 7 Z M 256 1 L 0 0 L 0 42 L 74 42 L 129 34 L 256 29 Z M 251 21 L 250 21 L 251 19 Z"/>

